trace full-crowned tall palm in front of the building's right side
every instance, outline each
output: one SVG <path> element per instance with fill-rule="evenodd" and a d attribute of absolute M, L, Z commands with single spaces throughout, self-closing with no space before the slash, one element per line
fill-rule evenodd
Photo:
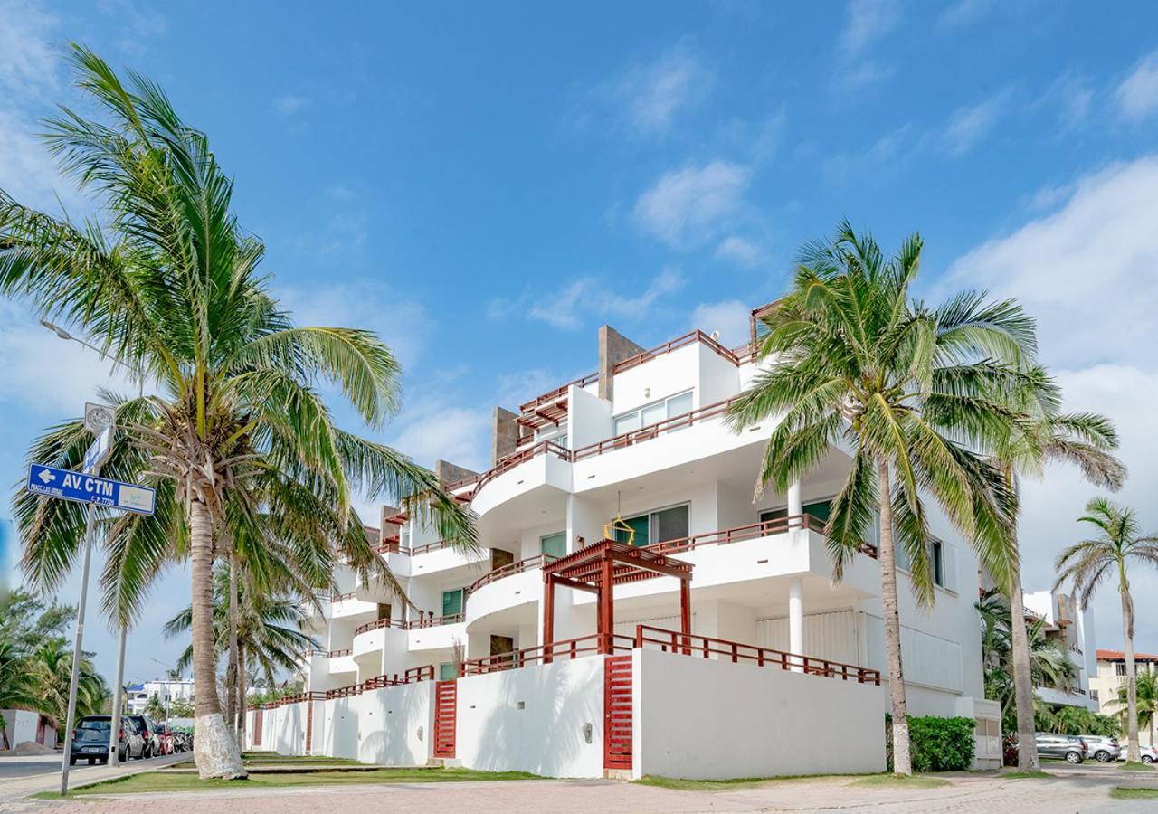
<path fill-rule="evenodd" d="M 1004 432 L 1001 382 L 1034 350 L 1033 322 L 1013 302 L 959 294 L 939 308 L 910 301 L 922 241 L 886 259 L 845 222 L 806 245 L 791 292 L 763 317 L 758 373 L 728 410 L 741 432 L 779 418 L 764 449 L 757 493 L 785 491 L 837 446 L 849 474 L 826 526 L 834 574 L 879 518 L 881 604 L 892 702 L 894 765 L 911 773 L 901 662 L 895 548 L 908 555 L 919 601 L 933 599 L 923 494 L 979 550 L 998 579 L 1009 573 L 1012 511 L 1001 471 L 974 450 Z"/>

